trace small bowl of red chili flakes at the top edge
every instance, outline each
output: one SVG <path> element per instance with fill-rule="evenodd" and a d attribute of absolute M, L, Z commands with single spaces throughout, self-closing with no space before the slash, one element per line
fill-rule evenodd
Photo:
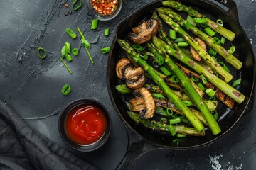
<path fill-rule="evenodd" d="M 87 7 L 95 18 L 108 21 L 119 14 L 122 0 L 87 0 Z"/>

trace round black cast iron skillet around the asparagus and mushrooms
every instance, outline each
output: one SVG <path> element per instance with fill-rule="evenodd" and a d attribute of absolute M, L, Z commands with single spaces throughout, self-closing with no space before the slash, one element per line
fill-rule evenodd
<path fill-rule="evenodd" d="M 254 55 L 247 35 L 245 35 L 244 30 L 239 24 L 238 11 L 235 2 L 232 0 L 218 1 L 220 2 L 220 4 L 226 6 L 228 8 L 228 11 L 226 11 L 224 8 L 220 8 L 219 5 L 214 4 L 211 1 L 183 0 L 181 2 L 183 4 L 198 9 L 198 11 L 200 11 L 201 13 L 205 14 L 209 18 L 212 18 L 213 21 L 221 18 L 223 20 L 223 23 L 225 23 L 225 27 L 235 32 L 236 37 L 235 40 L 233 40 L 232 42 L 237 49 L 235 52 L 235 56 L 239 58 L 239 60 L 243 63 L 243 66 L 242 69 L 240 69 L 239 71 L 231 69 L 231 72 L 234 77 L 233 80 L 239 78 L 242 79 L 242 84 L 238 87 L 238 90 L 245 95 L 245 101 L 243 101 L 243 103 L 241 103 L 240 105 L 235 104 L 232 110 L 221 105 L 220 107 L 218 107 L 218 113 L 220 114 L 218 123 L 220 125 L 220 128 L 222 129 L 222 132 L 219 135 L 212 135 L 210 130 L 206 130 L 205 137 L 187 137 L 184 139 L 180 139 L 179 145 L 176 145 L 175 142 L 171 142 L 172 140 L 174 140 L 171 135 L 164 135 L 160 132 L 154 132 L 150 129 L 144 128 L 142 125 L 134 123 L 134 121 L 127 115 L 128 109 L 124 103 L 124 101 L 127 100 L 127 97 L 119 94 L 119 92 L 114 89 L 117 84 L 124 84 L 124 82 L 120 81 L 117 78 L 114 68 L 115 64 L 120 58 L 126 57 L 125 53 L 122 51 L 117 43 L 117 38 L 127 39 L 127 34 L 134 26 L 137 26 L 143 18 L 150 18 L 151 11 L 153 11 L 154 8 L 162 5 L 161 1 L 154 1 L 151 4 L 140 8 L 138 11 L 122 21 L 122 23 L 119 23 L 119 26 L 117 27 L 116 37 L 112 42 L 112 50 L 110 51 L 110 56 L 107 63 L 107 87 L 114 109 L 126 125 L 132 128 L 139 135 L 142 135 L 144 138 L 146 138 L 146 140 L 151 145 L 156 145 L 157 147 L 168 147 L 171 149 L 188 149 L 201 147 L 203 145 L 210 144 L 211 142 L 215 142 L 218 138 L 225 135 L 225 133 L 233 128 L 235 123 L 240 120 L 241 116 L 250 110 L 255 84 Z"/>

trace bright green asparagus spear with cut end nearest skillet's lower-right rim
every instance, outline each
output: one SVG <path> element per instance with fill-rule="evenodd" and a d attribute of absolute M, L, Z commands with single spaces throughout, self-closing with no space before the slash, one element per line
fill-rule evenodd
<path fill-rule="evenodd" d="M 156 49 L 154 49 L 154 47 L 151 46 L 149 43 L 147 44 L 147 47 L 155 56 L 159 55 Z M 201 98 L 196 89 L 192 86 L 191 79 L 189 79 L 186 74 L 178 69 L 177 65 L 171 60 L 169 55 L 164 55 L 164 61 L 166 62 L 166 64 L 168 64 L 169 68 L 174 72 L 176 77 L 180 79 L 181 85 L 186 89 L 186 93 L 188 94 L 188 96 L 192 99 L 193 103 L 196 104 L 196 107 L 203 114 L 203 117 L 206 119 L 210 130 L 213 132 L 213 135 L 217 135 L 218 133 L 220 133 L 220 126 L 218 125 L 215 118 L 213 118 L 213 115 L 210 113 L 208 107 L 206 106 L 206 103 L 204 103 L 203 98 Z"/>

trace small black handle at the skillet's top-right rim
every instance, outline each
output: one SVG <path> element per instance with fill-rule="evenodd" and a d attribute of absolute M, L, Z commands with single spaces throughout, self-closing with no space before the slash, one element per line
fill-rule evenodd
<path fill-rule="evenodd" d="M 228 8 L 228 16 L 233 19 L 236 23 L 239 23 L 238 18 L 238 7 L 233 0 L 215 0 L 218 1 L 220 4 Z"/>

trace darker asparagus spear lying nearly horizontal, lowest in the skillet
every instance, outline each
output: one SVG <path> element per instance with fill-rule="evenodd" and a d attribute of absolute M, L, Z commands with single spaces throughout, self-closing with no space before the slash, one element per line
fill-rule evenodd
<path fill-rule="evenodd" d="M 169 126 L 164 123 L 159 122 L 151 122 L 150 120 L 144 120 L 142 118 L 139 118 L 139 115 L 137 113 L 134 113 L 132 111 L 127 111 L 127 114 L 129 115 L 132 120 L 136 123 L 141 123 L 146 128 L 150 128 L 152 130 L 160 130 L 164 132 L 169 132 Z M 198 132 L 195 128 L 188 128 L 184 125 L 172 125 L 174 127 L 174 130 L 176 133 L 183 134 L 183 135 L 193 135 L 193 136 L 204 136 L 205 130 L 201 130 Z"/>

